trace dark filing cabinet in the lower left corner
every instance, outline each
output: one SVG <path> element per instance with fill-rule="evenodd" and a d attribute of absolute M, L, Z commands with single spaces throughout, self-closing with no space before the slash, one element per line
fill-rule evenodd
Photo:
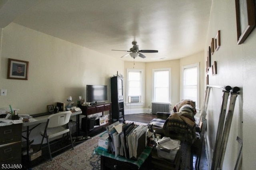
<path fill-rule="evenodd" d="M 0 127 L 0 164 L 21 164 L 22 124 Z"/>

